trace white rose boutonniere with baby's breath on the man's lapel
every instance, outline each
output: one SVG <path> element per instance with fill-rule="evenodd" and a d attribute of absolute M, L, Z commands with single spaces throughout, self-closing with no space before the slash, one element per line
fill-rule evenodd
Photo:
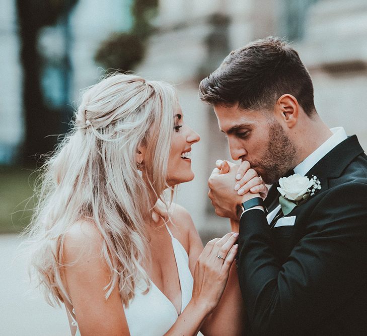
<path fill-rule="evenodd" d="M 279 203 L 284 216 L 288 215 L 294 208 L 305 203 L 305 201 L 321 189 L 321 183 L 316 176 L 309 179 L 307 176 L 293 174 L 289 177 L 279 179 L 280 187 L 277 187 L 281 196 Z"/>

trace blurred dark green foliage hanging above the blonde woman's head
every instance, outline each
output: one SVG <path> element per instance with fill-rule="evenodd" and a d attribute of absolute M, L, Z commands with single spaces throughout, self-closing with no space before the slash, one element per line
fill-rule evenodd
<path fill-rule="evenodd" d="M 145 43 L 154 32 L 152 18 L 157 13 L 158 0 L 133 0 L 130 32 L 114 33 L 97 50 L 95 59 L 106 69 L 122 72 L 132 70 L 144 57 Z"/>

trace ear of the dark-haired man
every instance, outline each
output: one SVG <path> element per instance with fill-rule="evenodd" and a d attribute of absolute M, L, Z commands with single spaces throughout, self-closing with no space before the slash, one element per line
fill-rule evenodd
<path fill-rule="evenodd" d="M 285 123 L 288 128 L 296 125 L 300 112 L 300 105 L 296 97 L 290 94 L 280 96 L 275 104 L 275 116 Z"/>

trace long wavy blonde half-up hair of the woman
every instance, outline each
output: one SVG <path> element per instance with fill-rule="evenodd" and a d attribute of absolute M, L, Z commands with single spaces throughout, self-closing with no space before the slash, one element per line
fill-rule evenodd
<path fill-rule="evenodd" d="M 133 75 L 108 76 L 84 92 L 71 131 L 42 167 L 27 231 L 31 264 L 51 305 L 71 303 L 62 250 L 66 231 L 79 220 L 91 220 L 103 237 L 101 253 L 111 271 L 106 298 L 118 285 L 127 305 L 141 280 L 149 290 L 144 219 L 167 188 L 175 105 L 171 85 Z M 142 168 L 136 162 L 141 145 Z"/>

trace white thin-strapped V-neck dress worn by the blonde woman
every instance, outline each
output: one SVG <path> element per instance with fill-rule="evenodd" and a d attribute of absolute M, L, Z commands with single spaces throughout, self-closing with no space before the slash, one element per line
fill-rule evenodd
<path fill-rule="evenodd" d="M 181 311 L 186 308 L 192 297 L 193 278 L 189 268 L 189 257 L 185 248 L 172 235 L 171 230 L 166 225 L 167 231 L 171 236 L 173 252 L 175 254 L 178 278 L 181 287 Z M 147 335 L 162 336 L 176 322 L 179 314 L 173 303 L 160 291 L 160 289 L 150 280 L 151 289 L 143 294 L 145 287 L 136 286 L 135 295 L 130 300 L 128 307 L 124 305 L 127 325 L 131 336 Z M 73 313 L 75 313 L 73 309 Z M 78 326 L 74 316 L 72 325 Z M 79 328 L 75 336 L 80 336 Z"/>

